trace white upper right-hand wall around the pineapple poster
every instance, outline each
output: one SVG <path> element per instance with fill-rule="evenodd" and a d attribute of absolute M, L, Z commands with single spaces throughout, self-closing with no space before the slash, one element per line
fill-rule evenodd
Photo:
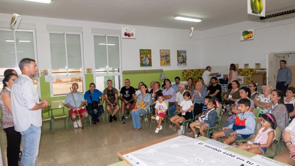
<path fill-rule="evenodd" d="M 240 31 L 254 28 L 254 40 L 240 41 Z M 207 65 L 221 66 L 261 63 L 266 68 L 266 54 L 295 51 L 295 19 L 277 22 L 246 21 L 202 31 L 203 68 Z"/>

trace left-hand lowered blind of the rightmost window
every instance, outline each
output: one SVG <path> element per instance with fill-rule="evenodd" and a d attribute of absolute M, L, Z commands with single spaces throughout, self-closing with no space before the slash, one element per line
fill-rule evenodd
<path fill-rule="evenodd" d="M 106 37 L 94 36 L 95 69 L 106 68 Z"/>

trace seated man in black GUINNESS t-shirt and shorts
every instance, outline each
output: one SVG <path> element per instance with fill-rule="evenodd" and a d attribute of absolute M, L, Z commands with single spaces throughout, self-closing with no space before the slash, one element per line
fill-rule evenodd
<path fill-rule="evenodd" d="M 122 100 L 121 101 L 122 123 L 125 123 L 125 118 L 129 117 L 129 111 L 130 111 L 131 105 L 133 104 L 133 98 L 135 95 L 135 89 L 130 86 L 130 80 L 125 79 L 124 83 L 125 83 L 125 86 L 122 87 L 120 91 L 120 99 Z M 124 117 L 125 106 L 126 106 L 127 112 Z"/>

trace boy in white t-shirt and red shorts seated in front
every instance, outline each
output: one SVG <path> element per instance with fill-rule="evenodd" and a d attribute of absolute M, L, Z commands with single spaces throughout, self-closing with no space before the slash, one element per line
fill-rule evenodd
<path fill-rule="evenodd" d="M 163 127 L 161 126 L 162 124 L 162 119 L 166 117 L 166 112 L 168 110 L 168 107 L 166 103 L 163 101 L 164 95 L 163 93 L 158 93 L 158 101 L 156 102 L 155 105 L 155 112 L 157 113 L 155 115 L 156 122 L 158 123 L 158 127 L 155 130 L 155 133 L 158 133 L 159 130 L 162 130 Z"/>

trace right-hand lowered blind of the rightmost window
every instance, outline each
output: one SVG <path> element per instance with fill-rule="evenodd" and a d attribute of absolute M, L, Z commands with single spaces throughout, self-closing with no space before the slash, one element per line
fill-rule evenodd
<path fill-rule="evenodd" d="M 108 57 L 109 57 L 109 67 L 113 69 L 120 68 L 119 59 L 119 37 L 108 36 Z"/>

